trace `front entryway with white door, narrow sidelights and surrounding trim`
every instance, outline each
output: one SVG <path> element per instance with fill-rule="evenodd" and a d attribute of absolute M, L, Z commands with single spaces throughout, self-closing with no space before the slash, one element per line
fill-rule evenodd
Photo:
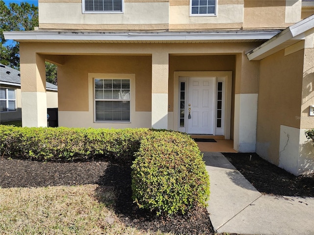
<path fill-rule="evenodd" d="M 232 72 L 175 72 L 176 75 L 179 102 L 174 123 L 178 123 L 178 130 L 230 139 Z"/>

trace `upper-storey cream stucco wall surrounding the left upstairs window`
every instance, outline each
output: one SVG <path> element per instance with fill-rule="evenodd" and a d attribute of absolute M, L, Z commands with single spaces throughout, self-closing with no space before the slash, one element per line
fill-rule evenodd
<path fill-rule="evenodd" d="M 160 30 L 168 28 L 169 2 L 125 1 L 124 13 L 82 13 L 81 1 L 39 0 L 39 28 Z"/>

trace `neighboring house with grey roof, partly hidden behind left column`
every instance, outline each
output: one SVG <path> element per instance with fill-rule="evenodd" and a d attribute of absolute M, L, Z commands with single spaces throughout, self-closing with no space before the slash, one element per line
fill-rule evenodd
<path fill-rule="evenodd" d="M 0 121 L 22 119 L 21 72 L 0 64 Z M 46 82 L 47 108 L 58 107 L 58 87 Z M 46 115 L 47 116 L 47 115 Z"/>

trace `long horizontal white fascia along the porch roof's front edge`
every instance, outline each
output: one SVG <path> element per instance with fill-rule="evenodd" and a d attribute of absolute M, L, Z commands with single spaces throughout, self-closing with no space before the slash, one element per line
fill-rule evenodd
<path fill-rule="evenodd" d="M 71 41 L 189 41 L 189 40 L 267 40 L 280 30 L 212 31 L 212 32 L 70 32 L 70 31 L 5 31 L 6 40 L 71 40 Z"/>

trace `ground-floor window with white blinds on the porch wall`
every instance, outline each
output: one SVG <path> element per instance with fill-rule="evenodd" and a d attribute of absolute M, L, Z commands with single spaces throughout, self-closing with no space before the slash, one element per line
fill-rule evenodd
<path fill-rule="evenodd" d="M 131 80 L 94 79 L 95 121 L 130 122 Z"/>

